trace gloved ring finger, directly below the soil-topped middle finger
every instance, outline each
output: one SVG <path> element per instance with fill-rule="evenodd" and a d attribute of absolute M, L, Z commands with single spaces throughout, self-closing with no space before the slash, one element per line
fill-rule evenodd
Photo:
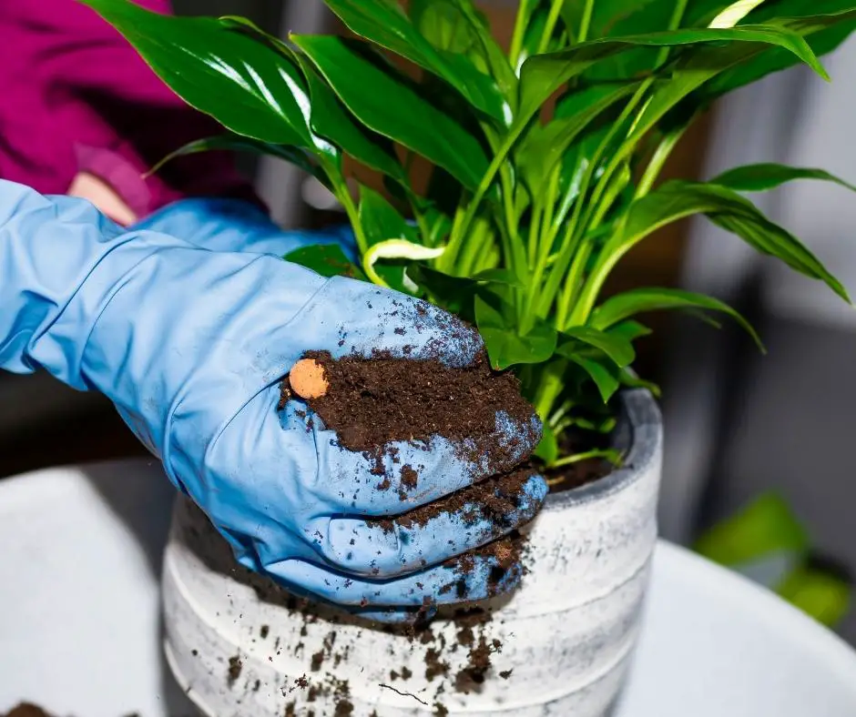
<path fill-rule="evenodd" d="M 433 568 L 386 581 L 346 575 L 299 559 L 270 563 L 264 570 L 286 587 L 297 585 L 340 605 L 451 605 L 514 590 L 523 575 L 518 545 L 517 540 L 504 538 Z"/>

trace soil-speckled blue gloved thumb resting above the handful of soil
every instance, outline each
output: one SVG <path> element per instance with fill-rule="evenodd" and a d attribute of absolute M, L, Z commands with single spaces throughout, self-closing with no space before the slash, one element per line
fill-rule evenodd
<path fill-rule="evenodd" d="M 478 331 L 422 299 L 364 281 L 332 277 L 290 323 L 301 346 L 333 358 L 378 353 L 472 366 L 484 348 Z"/>

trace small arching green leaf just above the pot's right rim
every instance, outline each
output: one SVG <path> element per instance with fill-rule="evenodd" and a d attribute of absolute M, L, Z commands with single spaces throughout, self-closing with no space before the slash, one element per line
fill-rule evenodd
<path fill-rule="evenodd" d="M 655 311 L 664 308 L 701 308 L 708 311 L 720 311 L 745 328 L 759 348 L 764 350 L 764 345 L 755 329 L 738 311 L 717 298 L 678 288 L 636 288 L 607 298 L 600 307 L 596 308 L 590 324 L 594 328 L 604 330 L 643 311 Z"/>

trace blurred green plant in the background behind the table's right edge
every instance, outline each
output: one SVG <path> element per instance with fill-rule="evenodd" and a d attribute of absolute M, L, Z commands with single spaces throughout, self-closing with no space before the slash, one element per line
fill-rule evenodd
<path fill-rule="evenodd" d="M 722 520 L 694 548 L 827 627 L 836 627 L 850 609 L 850 581 L 813 564 L 808 531 L 777 493 L 765 493 Z"/>

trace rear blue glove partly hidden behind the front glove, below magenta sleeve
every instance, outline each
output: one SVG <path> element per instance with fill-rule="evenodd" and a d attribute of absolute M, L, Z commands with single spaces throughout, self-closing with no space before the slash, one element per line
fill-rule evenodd
<path fill-rule="evenodd" d="M 180 199 L 129 229 L 158 231 L 209 251 L 283 257 L 313 244 L 337 244 L 346 257 L 352 261 L 356 257 L 356 241 L 350 227 L 342 225 L 322 232 L 283 230 L 260 207 L 240 199 Z"/>

